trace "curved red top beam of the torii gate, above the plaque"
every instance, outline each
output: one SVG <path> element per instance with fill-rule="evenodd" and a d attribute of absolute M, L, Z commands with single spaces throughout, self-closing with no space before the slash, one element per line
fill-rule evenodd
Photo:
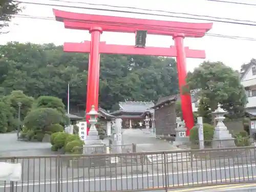
<path fill-rule="evenodd" d="M 134 33 L 146 30 L 147 34 L 175 36 L 183 33 L 185 37 L 203 37 L 212 27 L 212 23 L 183 23 L 164 20 L 139 19 L 73 13 L 53 9 L 55 18 L 65 24 L 67 29 L 90 30 L 100 27 L 103 31 Z"/>

